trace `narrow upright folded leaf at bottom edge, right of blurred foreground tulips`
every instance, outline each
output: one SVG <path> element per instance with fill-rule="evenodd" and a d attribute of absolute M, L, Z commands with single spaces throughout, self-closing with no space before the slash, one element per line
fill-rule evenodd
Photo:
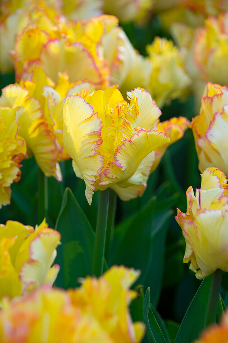
<path fill-rule="evenodd" d="M 150 287 L 147 288 L 143 303 L 143 320 L 150 343 L 166 343 L 159 324 L 150 308 Z"/>

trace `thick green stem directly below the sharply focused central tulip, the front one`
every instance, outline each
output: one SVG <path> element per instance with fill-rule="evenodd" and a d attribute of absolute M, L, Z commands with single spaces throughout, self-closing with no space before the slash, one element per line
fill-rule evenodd
<path fill-rule="evenodd" d="M 103 273 L 104 266 L 104 249 L 107 228 L 107 217 L 109 211 L 109 188 L 100 191 L 98 203 L 97 226 L 95 233 L 94 249 L 93 249 L 93 266 L 92 274 L 97 277 Z"/>

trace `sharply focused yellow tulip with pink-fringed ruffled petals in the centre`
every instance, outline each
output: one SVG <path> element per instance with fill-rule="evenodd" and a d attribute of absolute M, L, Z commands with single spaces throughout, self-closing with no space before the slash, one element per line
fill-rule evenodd
<path fill-rule="evenodd" d="M 85 93 L 85 92 L 84 92 Z M 107 187 L 121 199 L 142 195 L 154 161 L 154 150 L 169 142 L 156 130 L 161 111 L 145 90 L 127 93 L 117 86 L 67 97 L 63 138 L 77 177 L 84 179 L 86 198 Z"/>

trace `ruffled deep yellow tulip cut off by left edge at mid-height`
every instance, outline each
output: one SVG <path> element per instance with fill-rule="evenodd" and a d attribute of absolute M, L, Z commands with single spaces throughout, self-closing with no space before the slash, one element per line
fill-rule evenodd
<path fill-rule="evenodd" d="M 27 156 L 25 141 L 17 134 L 21 114 L 21 108 L 0 107 L 0 209 L 10 203 L 10 186 L 20 180 L 20 162 Z"/>

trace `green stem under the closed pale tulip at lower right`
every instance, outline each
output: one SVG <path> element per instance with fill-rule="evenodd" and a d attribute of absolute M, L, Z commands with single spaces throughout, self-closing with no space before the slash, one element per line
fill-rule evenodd
<path fill-rule="evenodd" d="M 216 319 L 222 275 L 223 271 L 221 269 L 217 269 L 212 274 L 211 289 L 204 324 L 205 328 L 208 327 L 210 324 L 214 323 Z"/>

